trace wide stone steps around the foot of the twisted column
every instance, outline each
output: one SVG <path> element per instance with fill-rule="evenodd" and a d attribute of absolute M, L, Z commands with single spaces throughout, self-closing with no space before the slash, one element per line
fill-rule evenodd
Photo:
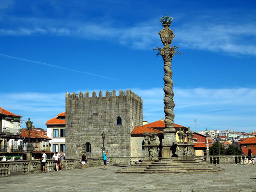
<path fill-rule="evenodd" d="M 130 167 L 118 170 L 116 173 L 218 173 L 223 169 L 198 158 L 178 159 L 159 158 L 155 161 L 136 162 Z"/>

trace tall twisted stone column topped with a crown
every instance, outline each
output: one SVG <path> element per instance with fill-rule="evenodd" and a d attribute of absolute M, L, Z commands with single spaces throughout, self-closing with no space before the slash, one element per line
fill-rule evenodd
<path fill-rule="evenodd" d="M 164 45 L 163 48 L 155 48 L 158 50 L 158 55 L 161 55 L 164 60 L 164 112 L 165 112 L 165 129 L 164 138 L 162 140 L 162 157 L 176 157 L 175 151 L 177 147 L 176 141 L 176 131 L 174 128 L 174 112 L 173 108 L 175 106 L 173 102 L 174 93 L 172 91 L 172 71 L 171 71 L 171 59 L 174 53 L 179 53 L 176 49 L 177 47 L 170 47 L 173 37 L 175 36 L 173 31 L 169 28 L 172 22 L 172 18 L 165 17 L 160 19 L 163 25 L 163 29 L 158 33 L 161 37 L 161 41 Z"/>

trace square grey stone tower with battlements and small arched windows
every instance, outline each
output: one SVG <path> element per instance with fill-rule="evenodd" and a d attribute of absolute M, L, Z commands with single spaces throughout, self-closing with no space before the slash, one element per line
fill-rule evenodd
<path fill-rule="evenodd" d="M 121 120 L 121 122 L 120 122 Z M 89 157 L 101 157 L 102 136 L 112 157 L 130 157 L 131 132 L 142 126 L 142 98 L 132 91 L 66 93 L 66 156 L 78 158 L 86 145 Z M 89 147 L 88 147 L 89 145 Z M 85 150 L 86 151 L 86 150 Z"/>

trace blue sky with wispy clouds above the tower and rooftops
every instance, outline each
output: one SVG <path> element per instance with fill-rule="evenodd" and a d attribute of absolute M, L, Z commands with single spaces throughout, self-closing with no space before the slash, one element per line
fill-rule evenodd
<path fill-rule="evenodd" d="M 129 88 L 144 120 L 164 118 L 163 60 L 152 49 L 163 47 L 167 13 L 182 53 L 172 60 L 174 122 L 255 131 L 255 10 L 252 0 L 1 0 L 0 106 L 46 129 L 66 92 Z"/>

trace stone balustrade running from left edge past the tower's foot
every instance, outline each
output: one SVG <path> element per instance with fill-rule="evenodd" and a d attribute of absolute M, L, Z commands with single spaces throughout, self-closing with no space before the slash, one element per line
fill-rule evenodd
<path fill-rule="evenodd" d="M 131 165 L 141 160 L 143 157 L 108 157 L 107 165 Z M 82 168 L 79 162 L 80 158 L 77 159 L 64 159 L 63 169 L 75 169 Z M 33 167 L 35 173 L 42 172 L 41 162 L 39 160 L 33 160 Z M 17 174 L 29 174 L 28 173 L 29 160 L 18 160 L 18 161 L 0 161 L 0 177 L 17 175 Z M 102 157 L 88 158 L 85 165 L 86 167 L 103 166 Z M 47 159 L 46 169 L 48 172 L 55 171 L 55 163 L 52 159 Z"/>

